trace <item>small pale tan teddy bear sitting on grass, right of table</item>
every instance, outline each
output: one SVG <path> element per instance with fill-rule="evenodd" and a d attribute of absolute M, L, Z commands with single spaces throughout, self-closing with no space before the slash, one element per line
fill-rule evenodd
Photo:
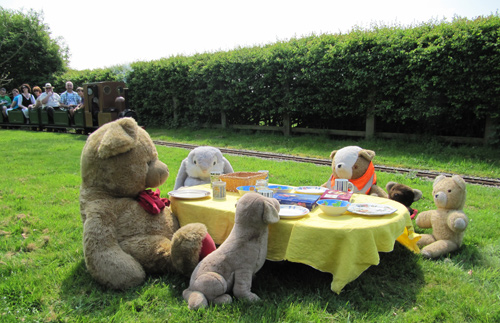
<path fill-rule="evenodd" d="M 437 258 L 460 248 L 469 223 L 462 210 L 467 195 L 462 177 L 440 175 L 432 187 L 437 210 L 422 212 L 415 221 L 421 228 L 432 227 L 432 234 L 423 234 L 417 243 L 424 247 L 422 255 L 427 258 Z"/>

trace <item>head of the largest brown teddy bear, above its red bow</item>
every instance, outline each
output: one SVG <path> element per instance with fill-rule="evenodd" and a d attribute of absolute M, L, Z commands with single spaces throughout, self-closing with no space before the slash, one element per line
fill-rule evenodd
<path fill-rule="evenodd" d="M 107 123 L 87 139 L 81 156 L 82 188 L 136 197 L 168 178 L 149 134 L 132 118 Z"/>

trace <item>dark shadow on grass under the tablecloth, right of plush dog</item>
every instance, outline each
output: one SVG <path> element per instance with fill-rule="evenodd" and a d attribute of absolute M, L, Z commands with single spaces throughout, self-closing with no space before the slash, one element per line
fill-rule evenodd
<path fill-rule="evenodd" d="M 380 253 L 380 264 L 371 266 L 340 294 L 330 289 L 332 275 L 291 262 L 267 261 L 254 280 L 255 292 L 264 299 L 282 302 L 320 302 L 321 308 L 342 308 L 384 313 L 396 307 L 412 308 L 424 286 L 421 257 L 396 243 L 394 251 Z"/>

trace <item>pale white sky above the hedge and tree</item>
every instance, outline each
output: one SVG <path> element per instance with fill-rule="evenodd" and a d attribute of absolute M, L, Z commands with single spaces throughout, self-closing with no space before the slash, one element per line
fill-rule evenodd
<path fill-rule="evenodd" d="M 495 0 L 0 0 L 43 13 L 76 70 L 499 12 Z"/>

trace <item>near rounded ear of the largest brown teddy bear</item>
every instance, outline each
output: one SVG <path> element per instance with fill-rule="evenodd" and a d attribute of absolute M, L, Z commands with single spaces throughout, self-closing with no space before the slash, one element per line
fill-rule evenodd
<path fill-rule="evenodd" d="M 99 158 L 110 158 L 131 150 L 136 146 L 137 123 L 132 118 L 123 118 L 109 124 L 97 149 Z"/>

